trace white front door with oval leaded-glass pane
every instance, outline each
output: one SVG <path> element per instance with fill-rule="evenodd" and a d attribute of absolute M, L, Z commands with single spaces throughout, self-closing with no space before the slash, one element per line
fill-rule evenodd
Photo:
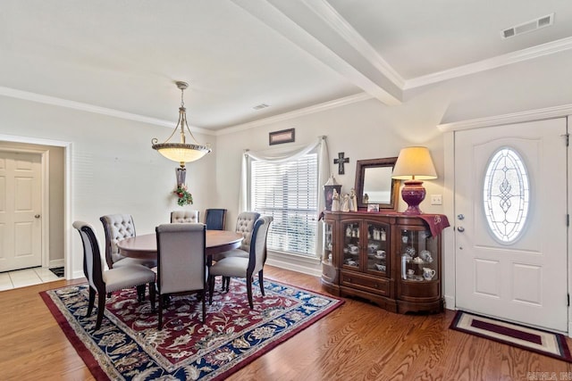
<path fill-rule="evenodd" d="M 458 309 L 568 331 L 566 134 L 564 118 L 455 133 Z"/>

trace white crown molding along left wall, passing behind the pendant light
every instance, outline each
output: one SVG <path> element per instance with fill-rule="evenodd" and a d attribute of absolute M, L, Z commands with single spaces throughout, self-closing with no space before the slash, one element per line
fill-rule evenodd
<path fill-rule="evenodd" d="M 9 96 L 12 98 L 23 99 L 25 101 L 37 102 L 38 104 L 50 104 L 53 106 L 65 107 L 72 110 L 78 110 L 82 112 L 92 112 L 100 115 L 111 116 L 114 118 L 120 118 L 124 120 L 140 121 L 143 123 L 152 124 L 155 126 L 174 128 L 175 122 L 169 120 L 160 120 L 156 118 L 149 118 L 143 115 L 134 114 L 130 112 L 120 112 L 114 109 L 108 109 L 106 107 L 99 107 L 93 104 L 83 104 L 81 102 L 70 101 L 67 99 L 57 98 L 55 96 L 41 95 L 36 93 L 30 93 L 28 91 L 16 90 L 10 87 L 0 87 L 0 95 Z M 214 135 L 213 131 L 205 128 L 197 128 L 192 126 L 195 132 Z"/>

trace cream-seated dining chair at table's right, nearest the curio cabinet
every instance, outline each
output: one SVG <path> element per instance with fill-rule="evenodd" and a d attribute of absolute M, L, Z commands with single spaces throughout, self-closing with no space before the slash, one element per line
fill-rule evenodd
<path fill-rule="evenodd" d="M 246 277 L 248 304 L 251 309 L 254 308 L 252 301 L 252 277 L 256 273 L 258 274 L 260 293 L 263 296 L 265 295 L 263 268 L 266 261 L 266 237 L 272 221 L 273 218 L 270 216 L 257 219 L 252 231 L 248 258 L 226 257 L 211 265 L 208 274 L 209 303 L 213 302 L 214 277 L 219 275 L 223 277 Z"/>

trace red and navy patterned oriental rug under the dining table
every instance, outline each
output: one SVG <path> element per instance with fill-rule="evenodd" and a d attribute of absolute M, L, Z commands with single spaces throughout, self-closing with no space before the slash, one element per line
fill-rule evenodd
<path fill-rule="evenodd" d="M 87 284 L 40 294 L 98 380 L 220 380 L 343 303 L 265 279 L 265 296 L 254 282 L 250 310 L 245 282 L 233 278 L 228 293 L 220 289 L 217 283 L 213 304 L 206 303 L 206 324 L 200 321 L 201 303 L 195 296 L 172 297 L 162 331 L 150 303 L 137 302 L 134 288 L 107 299 L 97 331 L 97 306 L 85 318 Z"/>

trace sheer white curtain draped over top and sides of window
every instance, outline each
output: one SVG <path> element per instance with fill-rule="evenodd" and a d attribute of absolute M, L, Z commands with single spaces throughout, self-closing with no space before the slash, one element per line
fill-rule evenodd
<path fill-rule="evenodd" d="M 280 153 L 278 155 L 269 155 L 254 153 L 249 150 L 245 150 L 242 155 L 242 166 L 240 170 L 240 193 L 239 193 L 239 211 L 247 211 L 249 208 L 249 198 L 248 198 L 248 181 L 249 181 L 249 161 L 258 160 L 263 162 L 288 162 L 291 160 L 298 160 L 300 157 L 317 150 L 318 152 L 318 214 L 320 211 L 324 211 L 324 184 L 330 176 L 330 155 L 328 153 L 328 145 L 326 143 L 326 137 L 318 137 L 315 143 L 307 145 L 306 147 L 300 148 L 296 151 L 290 153 Z M 318 219 L 318 216 L 315 216 Z M 324 250 L 322 239 L 322 224 L 317 224 L 316 229 L 316 243 L 315 243 L 315 255 L 319 258 L 322 257 L 322 252 Z"/>

